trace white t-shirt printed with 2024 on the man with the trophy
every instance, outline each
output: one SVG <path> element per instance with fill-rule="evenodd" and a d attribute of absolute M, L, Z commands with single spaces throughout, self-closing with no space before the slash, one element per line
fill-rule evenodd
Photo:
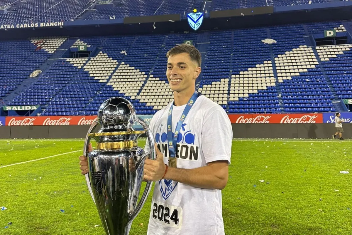
<path fill-rule="evenodd" d="M 150 130 L 168 164 L 167 119 L 170 105 L 159 110 Z M 186 104 L 187 105 L 187 104 Z M 174 106 L 172 132 L 184 110 Z M 174 134 L 172 134 L 174 135 Z M 177 140 L 177 167 L 193 169 L 208 162 L 231 162 L 232 126 L 225 110 L 204 95 L 197 98 Z M 149 144 L 146 144 L 149 151 Z M 172 180 L 155 182 L 147 235 L 224 235 L 221 190 L 196 188 Z"/>

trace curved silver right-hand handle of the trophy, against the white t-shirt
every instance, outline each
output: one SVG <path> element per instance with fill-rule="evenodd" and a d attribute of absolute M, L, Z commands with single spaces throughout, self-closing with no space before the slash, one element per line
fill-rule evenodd
<path fill-rule="evenodd" d="M 147 135 L 148 138 L 148 142 L 149 142 L 149 152 L 145 153 L 143 155 L 143 157 L 136 163 L 136 171 L 137 169 L 142 165 L 142 163 L 144 162 L 144 160 L 146 159 L 147 156 L 150 155 L 150 157 L 154 160 L 155 157 L 155 147 L 154 147 L 154 138 L 153 138 L 153 134 L 150 131 L 148 125 L 143 121 L 142 118 L 138 117 L 136 119 L 136 122 L 138 122 L 140 125 L 143 126 L 143 129 L 145 130 L 145 133 Z M 134 211 L 132 212 L 132 215 L 130 216 L 130 218 L 128 219 L 128 224 L 132 223 L 133 219 L 136 218 L 136 216 L 138 215 L 139 211 L 142 209 L 145 201 L 147 200 L 147 196 L 150 193 L 150 190 L 152 189 L 152 181 L 147 181 L 147 184 L 145 186 L 144 192 L 142 197 L 139 200 L 138 205 L 136 206 L 136 209 L 134 209 Z"/>

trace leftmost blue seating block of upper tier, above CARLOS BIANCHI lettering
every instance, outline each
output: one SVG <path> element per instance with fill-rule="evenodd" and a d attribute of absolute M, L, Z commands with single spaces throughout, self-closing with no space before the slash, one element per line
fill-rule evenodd
<path fill-rule="evenodd" d="M 29 0 L 6 14 L 0 24 L 31 24 L 74 20 L 93 0 Z"/>

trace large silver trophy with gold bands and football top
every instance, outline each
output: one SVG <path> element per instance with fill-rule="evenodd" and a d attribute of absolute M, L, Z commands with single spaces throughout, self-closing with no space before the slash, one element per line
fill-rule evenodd
<path fill-rule="evenodd" d="M 133 129 L 134 122 L 144 131 Z M 98 132 L 92 133 L 100 124 Z M 137 145 L 137 138 L 146 133 L 150 151 Z M 90 138 L 96 149 L 90 153 Z M 154 138 L 142 118 L 137 118 L 132 103 L 121 97 L 110 98 L 99 108 L 98 122 L 93 123 L 84 141 L 83 155 L 88 158 L 86 174 L 88 189 L 98 209 L 106 234 L 128 235 L 134 218 L 142 209 L 151 190 L 148 181 L 139 203 L 143 181 L 144 160 L 155 159 Z"/>

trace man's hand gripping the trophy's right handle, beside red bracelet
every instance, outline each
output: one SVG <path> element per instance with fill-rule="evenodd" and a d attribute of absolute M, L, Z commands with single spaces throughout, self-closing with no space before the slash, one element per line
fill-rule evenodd
<path fill-rule="evenodd" d="M 144 179 L 150 181 L 161 180 L 165 174 L 166 166 L 164 163 L 164 155 L 158 149 L 157 144 L 155 144 L 156 159 L 146 159 L 144 161 Z"/>

